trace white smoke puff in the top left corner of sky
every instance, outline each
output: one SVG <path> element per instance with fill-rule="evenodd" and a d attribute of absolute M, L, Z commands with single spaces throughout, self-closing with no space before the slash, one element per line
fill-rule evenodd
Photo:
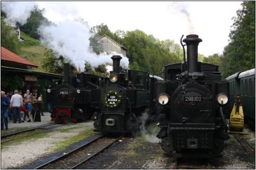
<path fill-rule="evenodd" d="M 11 25 L 16 25 L 19 22 L 21 25 L 26 24 L 26 20 L 35 10 L 35 1 L 2 1 L 1 10 L 6 13 L 5 22 Z"/>

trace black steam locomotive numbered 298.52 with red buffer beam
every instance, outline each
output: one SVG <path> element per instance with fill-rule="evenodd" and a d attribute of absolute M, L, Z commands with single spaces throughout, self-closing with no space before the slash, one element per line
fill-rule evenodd
<path fill-rule="evenodd" d="M 69 64 L 64 65 L 64 82 L 47 89 L 47 104 L 51 120 L 77 122 L 92 118 L 99 112 L 99 99 L 105 78 L 90 73 L 69 74 Z"/>

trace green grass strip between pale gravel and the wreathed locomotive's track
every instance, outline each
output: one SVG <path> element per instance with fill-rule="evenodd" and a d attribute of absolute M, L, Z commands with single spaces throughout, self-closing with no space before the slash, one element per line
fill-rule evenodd
<path fill-rule="evenodd" d="M 60 150 L 63 150 L 64 148 L 66 148 L 67 146 L 71 145 L 72 143 L 76 143 L 78 141 L 83 140 L 84 138 L 92 135 L 93 129 L 87 130 L 87 131 L 82 131 L 79 132 L 79 134 L 77 134 L 76 136 L 72 136 L 71 138 L 65 139 L 61 142 L 58 142 L 58 145 L 56 145 L 56 147 L 54 148 L 55 152 L 58 152 Z"/>

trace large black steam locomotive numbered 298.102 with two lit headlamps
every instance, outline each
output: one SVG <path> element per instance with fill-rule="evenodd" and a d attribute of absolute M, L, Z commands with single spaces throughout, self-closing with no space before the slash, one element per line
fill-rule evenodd
<path fill-rule="evenodd" d="M 218 66 L 198 62 L 201 41 L 195 34 L 183 39 L 186 62 L 181 38 L 184 62 L 164 66 L 164 81 L 156 83 L 161 128 L 157 138 L 164 152 L 173 157 L 200 151 L 221 153 L 229 138 L 223 113 L 228 105 L 228 83 L 221 81 Z"/>

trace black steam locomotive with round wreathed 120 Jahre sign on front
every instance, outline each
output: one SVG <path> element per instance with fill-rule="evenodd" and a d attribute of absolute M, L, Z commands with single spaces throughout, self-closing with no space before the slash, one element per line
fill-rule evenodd
<path fill-rule="evenodd" d="M 140 116 L 152 118 L 155 81 L 163 80 L 143 71 L 120 70 L 122 57 L 113 55 L 113 71 L 103 89 L 101 113 L 93 115 L 95 131 L 131 133 L 139 130 Z M 144 115 L 145 117 L 145 115 Z"/>

